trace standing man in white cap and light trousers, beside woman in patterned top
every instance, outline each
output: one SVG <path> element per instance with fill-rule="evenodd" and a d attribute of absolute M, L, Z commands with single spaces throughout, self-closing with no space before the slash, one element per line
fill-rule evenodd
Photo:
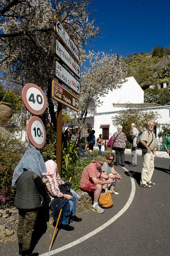
<path fill-rule="evenodd" d="M 137 155 L 136 155 L 136 140 L 137 140 L 137 136 L 139 134 L 138 129 L 136 128 L 136 124 L 132 123 L 131 124 L 131 138 L 132 138 L 132 142 L 131 142 L 131 154 L 132 154 L 132 163 L 129 166 L 137 166 Z"/>

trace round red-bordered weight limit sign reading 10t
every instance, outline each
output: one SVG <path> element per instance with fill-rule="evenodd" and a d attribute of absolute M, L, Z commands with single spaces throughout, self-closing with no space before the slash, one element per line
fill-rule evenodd
<path fill-rule="evenodd" d="M 38 116 L 33 116 L 27 123 L 27 136 L 34 147 L 42 148 L 45 144 L 45 127 Z"/>

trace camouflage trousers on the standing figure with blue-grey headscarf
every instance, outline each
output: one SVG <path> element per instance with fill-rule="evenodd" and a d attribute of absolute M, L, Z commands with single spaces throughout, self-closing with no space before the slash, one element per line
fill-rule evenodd
<path fill-rule="evenodd" d="M 23 251 L 30 249 L 31 237 L 34 231 L 34 224 L 37 219 L 38 210 L 19 209 L 17 237 L 18 242 L 22 243 Z"/>

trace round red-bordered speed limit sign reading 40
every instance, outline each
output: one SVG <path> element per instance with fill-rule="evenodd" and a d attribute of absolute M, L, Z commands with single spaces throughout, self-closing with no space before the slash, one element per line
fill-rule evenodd
<path fill-rule="evenodd" d="M 26 109 L 34 115 L 41 115 L 46 109 L 44 91 L 33 83 L 27 83 L 22 89 L 22 101 Z"/>

